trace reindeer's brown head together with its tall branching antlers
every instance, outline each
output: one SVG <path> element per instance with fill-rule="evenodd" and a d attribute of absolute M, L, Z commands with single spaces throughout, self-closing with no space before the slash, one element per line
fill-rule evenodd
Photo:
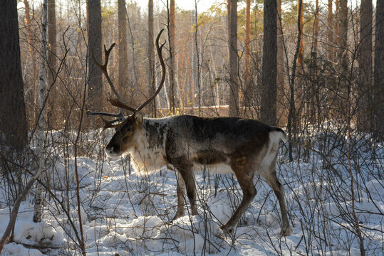
<path fill-rule="evenodd" d="M 165 45 L 165 42 L 162 43 L 162 45 L 159 45 L 159 39 L 162 34 L 162 29 L 160 33 L 157 35 L 156 38 L 156 49 L 157 54 L 159 55 L 160 65 L 162 67 L 162 78 L 160 81 L 159 87 L 157 87 L 157 90 L 154 95 L 152 95 L 149 99 L 147 99 L 145 102 L 143 102 L 139 107 L 133 108 L 129 107 L 128 105 L 125 105 L 123 103 L 123 100 L 121 99 L 120 95 L 118 94 L 118 91 L 115 88 L 115 85 L 113 85 L 112 80 L 110 80 L 110 77 L 108 75 L 107 65 L 108 65 L 108 58 L 110 51 L 115 46 L 115 43 L 113 43 L 112 46 L 107 50 L 104 46 L 104 53 L 105 53 L 105 63 L 104 65 L 101 65 L 98 63 L 95 58 L 93 58 L 93 61 L 95 61 L 96 65 L 103 70 L 103 73 L 105 75 L 105 78 L 107 78 L 108 83 L 115 92 L 116 97 L 108 97 L 108 101 L 111 105 L 115 107 L 119 107 L 120 111 L 118 114 L 111 114 L 111 113 L 105 113 L 105 112 L 87 112 L 87 114 L 100 114 L 100 116 L 108 116 L 108 117 L 115 117 L 113 120 L 105 120 L 103 117 L 104 122 L 104 129 L 106 128 L 115 128 L 115 134 L 113 135 L 112 139 L 110 139 L 110 142 L 105 147 L 105 152 L 112 157 L 120 156 L 124 153 L 127 153 L 129 149 L 133 148 L 135 146 L 135 137 L 137 137 L 137 133 L 142 130 L 142 122 L 143 117 L 140 113 L 140 110 L 142 110 L 145 105 L 147 105 L 150 101 L 152 101 L 156 95 L 160 92 L 162 85 L 164 85 L 165 81 L 165 63 L 162 58 L 162 47 Z M 92 56 L 93 57 L 93 56 Z M 125 117 L 123 114 L 123 110 L 129 110 L 132 112 L 128 117 Z M 115 124 L 116 123 L 116 124 Z"/>

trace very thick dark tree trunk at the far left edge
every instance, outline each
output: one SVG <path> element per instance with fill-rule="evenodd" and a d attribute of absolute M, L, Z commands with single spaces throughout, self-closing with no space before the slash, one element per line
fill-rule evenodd
<path fill-rule="evenodd" d="M 0 1 L 0 143 L 21 151 L 28 143 L 16 1 Z"/>

